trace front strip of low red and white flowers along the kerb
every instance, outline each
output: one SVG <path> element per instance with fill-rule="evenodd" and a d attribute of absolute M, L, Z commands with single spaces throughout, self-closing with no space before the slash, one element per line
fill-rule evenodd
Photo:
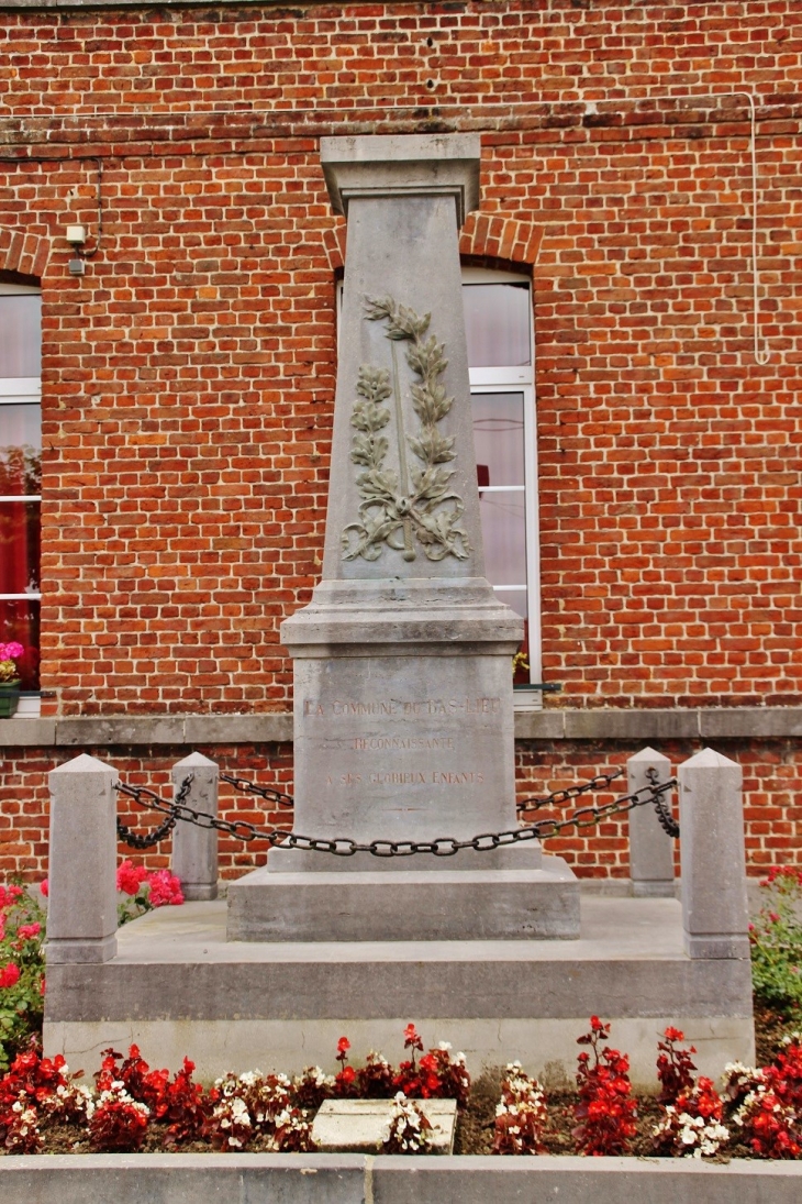
<path fill-rule="evenodd" d="M 394 1098 L 384 1152 L 424 1153 L 426 1100 L 456 1098 L 461 1112 L 456 1152 L 497 1155 L 747 1157 L 796 1159 L 802 1155 L 802 1037 L 785 1037 L 760 1069 L 725 1068 L 721 1091 L 694 1078 L 695 1050 L 678 1029 L 658 1044 L 659 1094 L 636 1099 L 628 1060 L 606 1044 L 599 1017 L 578 1038 L 577 1091 L 548 1098 L 518 1063 L 503 1076 L 485 1075 L 476 1090 L 461 1054 L 448 1046 L 423 1052 L 414 1025 L 404 1032 L 409 1057 L 397 1068 L 370 1052 L 349 1063 L 340 1038 L 339 1069 L 308 1067 L 290 1080 L 259 1070 L 227 1074 L 204 1088 L 185 1061 L 170 1075 L 153 1070 L 136 1045 L 127 1057 L 107 1050 L 94 1087 L 64 1058 L 20 1054 L 0 1080 L 0 1141 L 6 1153 L 36 1152 L 309 1152 L 311 1120 L 323 1099 Z M 416 1057 L 417 1054 L 422 1056 Z M 412 1102 L 412 1098 L 417 1103 Z"/>

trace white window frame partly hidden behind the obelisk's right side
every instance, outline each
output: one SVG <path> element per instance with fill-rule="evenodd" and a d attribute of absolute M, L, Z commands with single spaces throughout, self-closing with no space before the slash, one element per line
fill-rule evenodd
<path fill-rule="evenodd" d="M 470 368 L 473 394 L 519 393 L 523 394 L 524 441 L 524 514 L 527 524 L 527 609 L 529 619 L 529 681 L 542 681 L 542 638 L 540 601 L 540 506 L 537 488 L 537 409 L 535 397 L 535 330 L 531 306 L 531 282 L 516 272 L 494 271 L 483 267 L 463 267 L 463 284 L 527 284 L 529 288 L 529 346 L 531 364 L 510 367 Z M 493 486 L 491 486 L 492 489 Z M 501 486 L 498 486 L 499 489 Z M 509 486 L 505 486 L 509 489 Z M 482 490 L 485 492 L 485 490 Z M 499 600 L 504 601 L 505 586 L 494 586 Z M 511 586 L 506 586 L 511 589 Z M 542 691 L 525 686 L 515 691 L 516 710 L 540 709 Z"/>

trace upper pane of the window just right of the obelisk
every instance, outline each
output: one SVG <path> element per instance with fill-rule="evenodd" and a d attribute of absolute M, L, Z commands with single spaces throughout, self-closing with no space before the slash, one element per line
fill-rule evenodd
<path fill-rule="evenodd" d="M 462 301 L 471 368 L 531 364 L 527 284 L 463 284 Z"/>

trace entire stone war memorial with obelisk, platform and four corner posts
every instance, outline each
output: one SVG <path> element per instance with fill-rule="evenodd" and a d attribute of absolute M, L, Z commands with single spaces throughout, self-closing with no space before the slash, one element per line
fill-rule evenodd
<path fill-rule="evenodd" d="M 604 1013 L 635 1081 L 669 1023 L 705 1073 L 750 1061 L 738 766 L 703 750 L 679 767 L 681 901 L 650 808 L 630 815 L 640 897 L 581 896 L 516 836 L 521 620 L 483 572 L 459 281 L 479 136 L 323 138 L 321 165 L 347 252 L 322 579 L 281 628 L 303 838 L 226 902 L 216 833 L 179 822 L 195 902 L 117 933 L 117 772 L 54 771 L 46 1046 L 87 1060 L 136 1040 L 212 1078 L 328 1064 L 345 1031 L 391 1049 L 415 1020 L 475 1070 L 570 1074 Z M 189 802 L 210 811 L 216 767 L 186 760 Z M 649 749 L 629 773 L 631 791 L 671 767 Z"/>

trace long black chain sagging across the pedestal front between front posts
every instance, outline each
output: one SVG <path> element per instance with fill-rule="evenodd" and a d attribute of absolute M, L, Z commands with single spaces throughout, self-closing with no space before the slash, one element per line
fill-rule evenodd
<path fill-rule="evenodd" d="M 225 832 L 238 840 L 265 840 L 271 848 L 281 845 L 284 849 L 299 849 L 304 852 L 331 852 L 335 857 L 352 857 L 357 852 L 367 852 L 373 857 L 411 857 L 418 852 L 429 852 L 434 857 L 453 857 L 465 849 L 487 852 L 491 849 L 503 849 L 507 845 L 522 844 L 525 840 L 543 840 L 557 836 L 566 827 L 593 827 L 602 820 L 612 819 L 613 815 L 624 815 L 636 807 L 657 803 L 676 785 L 676 778 L 671 778 L 660 785 L 642 786 L 634 793 L 614 798 L 604 807 L 581 807 L 564 820 L 540 820 L 539 824 L 511 828 L 507 832 L 481 832 L 469 840 L 438 837 L 435 840 L 370 840 L 367 844 L 343 837 L 327 839 L 325 837 L 301 836 L 298 832 L 284 832 L 281 828 L 260 828 L 245 820 L 228 822 L 218 819 L 209 811 L 198 811 L 194 807 L 188 807 L 178 795 L 174 803 L 168 803 L 150 790 L 123 786 L 121 784 L 118 785 L 118 789 L 130 795 L 141 807 L 150 807 L 153 810 L 167 815 L 172 821 L 171 828 L 178 820 L 182 820 L 185 824 L 194 824 L 196 827 Z M 145 798 L 148 802 L 143 802 Z M 165 825 L 162 824 L 161 827 Z"/>

